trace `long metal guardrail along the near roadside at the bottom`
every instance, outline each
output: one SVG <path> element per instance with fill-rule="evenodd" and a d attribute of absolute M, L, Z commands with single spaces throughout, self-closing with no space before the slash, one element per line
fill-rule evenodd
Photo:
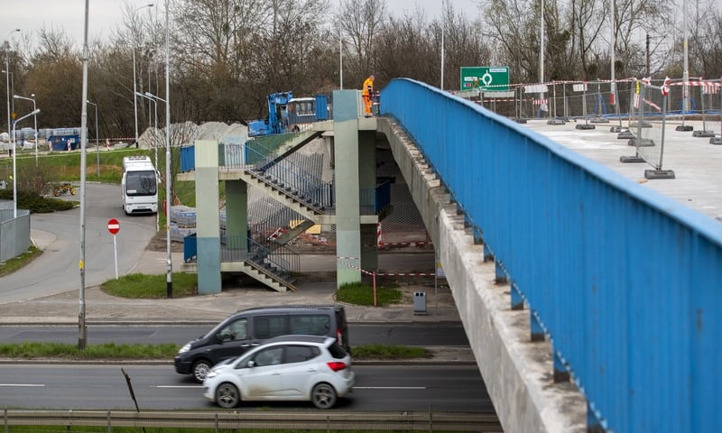
<path fill-rule="evenodd" d="M 495 414 L 439 411 L 141 411 L 132 410 L 8 410 L 5 431 L 16 426 L 113 428 L 204 428 L 219 430 L 346 430 L 355 431 L 482 431 L 501 432 Z M 43 428 L 43 431 L 51 430 Z"/>

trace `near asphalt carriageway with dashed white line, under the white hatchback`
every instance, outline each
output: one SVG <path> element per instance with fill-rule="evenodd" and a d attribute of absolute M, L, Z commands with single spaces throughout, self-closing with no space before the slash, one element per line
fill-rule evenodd
<path fill-rule="evenodd" d="M 134 410 L 218 409 L 202 386 L 167 365 L 0 365 L 0 408 Z M 354 392 L 339 409 L 493 412 L 478 369 L 469 365 L 356 365 Z M 244 403 L 242 410 L 313 409 L 310 403 Z"/>

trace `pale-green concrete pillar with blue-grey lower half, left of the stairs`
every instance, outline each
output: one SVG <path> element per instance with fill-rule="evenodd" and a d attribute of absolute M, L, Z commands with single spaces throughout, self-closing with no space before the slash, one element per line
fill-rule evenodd
<path fill-rule="evenodd" d="M 220 223 L 218 215 L 218 142 L 199 140 L 196 147 L 196 226 L 199 294 L 220 293 Z"/>

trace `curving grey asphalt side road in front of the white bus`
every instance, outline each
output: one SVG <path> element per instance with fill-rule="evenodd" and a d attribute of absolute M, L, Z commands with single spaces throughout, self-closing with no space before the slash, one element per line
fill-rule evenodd
<path fill-rule="evenodd" d="M 79 200 L 75 196 L 60 196 Z M 85 224 L 85 287 L 116 277 L 113 236 L 107 221 L 120 222 L 116 236 L 118 272 L 129 272 L 145 245 L 155 234 L 155 216 L 125 216 L 120 204 L 120 186 L 88 184 Z M 32 214 L 31 226 L 57 236 L 51 247 L 23 269 L 0 278 L 0 302 L 17 302 L 64 293 L 80 288 L 80 209 L 52 214 Z"/>

